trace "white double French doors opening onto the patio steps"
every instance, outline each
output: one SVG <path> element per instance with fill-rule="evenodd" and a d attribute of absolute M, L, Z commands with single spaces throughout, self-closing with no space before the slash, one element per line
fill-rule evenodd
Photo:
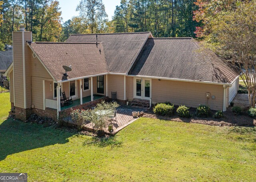
<path fill-rule="evenodd" d="M 151 79 L 134 77 L 134 97 L 146 100 L 151 98 Z"/>

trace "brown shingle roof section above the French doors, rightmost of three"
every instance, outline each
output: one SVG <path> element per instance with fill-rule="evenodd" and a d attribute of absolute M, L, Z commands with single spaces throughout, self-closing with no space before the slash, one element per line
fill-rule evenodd
<path fill-rule="evenodd" d="M 129 75 L 232 83 L 238 74 L 193 38 L 150 38 Z"/>

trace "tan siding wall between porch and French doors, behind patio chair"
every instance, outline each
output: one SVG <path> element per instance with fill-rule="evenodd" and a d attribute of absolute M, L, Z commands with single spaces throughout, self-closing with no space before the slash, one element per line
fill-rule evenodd
<path fill-rule="evenodd" d="M 110 98 L 111 92 L 116 92 L 117 99 L 124 100 L 124 75 L 108 75 L 108 95 Z"/>

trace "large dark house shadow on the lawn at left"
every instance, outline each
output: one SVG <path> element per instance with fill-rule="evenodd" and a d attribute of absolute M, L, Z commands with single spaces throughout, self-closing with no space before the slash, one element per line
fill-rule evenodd
<path fill-rule="evenodd" d="M 18 119 L 0 124 L 0 160 L 8 155 L 54 144 L 64 144 L 76 133 L 70 133 Z"/>

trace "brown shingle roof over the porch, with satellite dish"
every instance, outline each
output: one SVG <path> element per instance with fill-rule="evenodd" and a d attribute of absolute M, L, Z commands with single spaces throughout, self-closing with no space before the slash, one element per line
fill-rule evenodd
<path fill-rule="evenodd" d="M 102 43 L 32 42 L 29 43 L 40 61 L 56 81 L 72 80 L 108 72 Z M 63 65 L 72 66 L 64 76 Z"/>

